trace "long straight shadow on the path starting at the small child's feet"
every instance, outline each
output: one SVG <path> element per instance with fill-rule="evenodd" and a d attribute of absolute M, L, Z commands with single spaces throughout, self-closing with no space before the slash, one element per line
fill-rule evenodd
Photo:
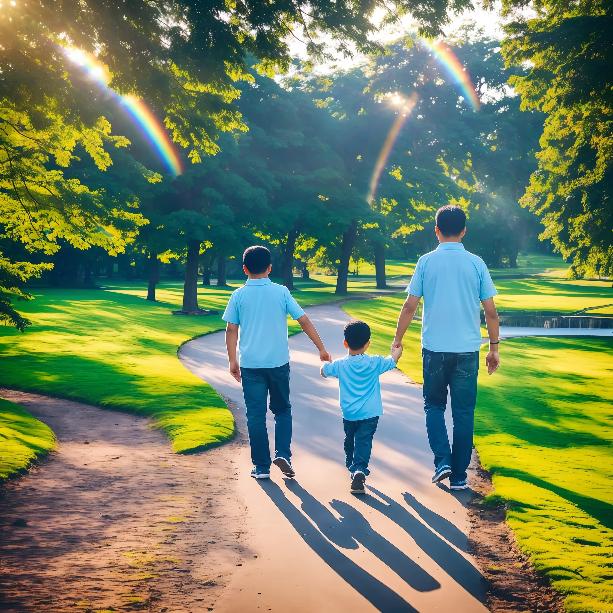
<path fill-rule="evenodd" d="M 374 487 L 367 485 L 371 492 L 374 492 L 381 502 L 372 496 L 360 497 L 365 504 L 389 517 L 392 522 L 398 524 L 403 530 L 413 537 L 418 547 L 429 555 L 454 581 L 462 585 L 466 592 L 470 593 L 477 600 L 485 601 L 487 581 L 466 558 L 456 551 L 449 543 L 443 541 L 430 528 L 414 517 L 407 509 L 398 504 L 392 498 L 379 492 Z"/>

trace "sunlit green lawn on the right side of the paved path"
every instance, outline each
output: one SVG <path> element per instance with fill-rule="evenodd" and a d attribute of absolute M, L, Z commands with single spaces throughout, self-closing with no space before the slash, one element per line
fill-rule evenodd
<path fill-rule="evenodd" d="M 499 291 L 508 289 L 501 283 Z M 549 296 L 541 308 L 554 310 L 560 297 L 543 283 L 521 286 L 519 295 L 527 304 Z M 565 298 L 582 306 L 601 297 L 592 286 L 565 287 Z M 370 352 L 389 354 L 402 302 L 398 294 L 343 305 L 371 326 Z M 419 332 L 413 322 L 398 367 L 422 383 Z M 613 611 L 613 343 L 517 339 L 504 341 L 500 354 L 500 369 L 488 376 L 482 351 L 475 422 L 491 501 L 508 505 L 520 549 L 566 596 L 567 611 Z"/>

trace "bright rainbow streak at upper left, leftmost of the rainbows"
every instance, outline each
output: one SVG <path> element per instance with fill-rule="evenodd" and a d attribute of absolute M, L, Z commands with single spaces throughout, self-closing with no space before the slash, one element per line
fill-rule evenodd
<path fill-rule="evenodd" d="M 147 137 L 153 148 L 158 152 L 170 173 L 175 177 L 183 173 L 183 164 L 178 156 L 175 147 L 170 140 L 170 136 L 161 122 L 156 118 L 143 100 L 128 94 L 121 96 L 109 89 L 110 76 L 106 67 L 101 64 L 93 55 L 84 53 L 80 50 L 68 50 L 68 57 L 83 68 L 85 73 L 98 85 L 110 91 L 121 105 L 128 111 L 128 115 L 139 126 L 143 134 Z"/>

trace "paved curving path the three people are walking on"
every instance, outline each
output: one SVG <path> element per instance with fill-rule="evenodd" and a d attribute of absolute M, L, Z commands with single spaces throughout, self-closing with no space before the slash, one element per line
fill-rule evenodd
<path fill-rule="evenodd" d="M 345 311 L 327 305 L 307 312 L 333 357 L 342 356 Z M 463 503 L 471 492 L 452 495 L 430 483 L 421 389 L 398 370 L 381 377 L 386 414 L 375 435 L 370 493 L 353 496 L 337 381 L 319 376 L 305 335 L 290 338 L 289 346 L 296 479 L 284 479 L 274 466 L 270 481 L 249 478 L 243 447 L 237 485 L 250 551 L 215 610 L 487 611 L 484 580 L 466 554 L 470 522 Z M 244 432 L 242 390 L 227 371 L 223 332 L 183 345 L 179 358 L 237 407 Z"/>

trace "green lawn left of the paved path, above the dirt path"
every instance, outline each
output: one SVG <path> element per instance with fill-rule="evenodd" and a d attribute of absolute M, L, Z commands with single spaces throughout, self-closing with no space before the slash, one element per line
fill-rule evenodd
<path fill-rule="evenodd" d="M 162 283 L 158 303 L 145 300 L 144 282 L 98 282 L 105 289 L 31 289 L 35 300 L 19 309 L 34 325 L 0 329 L 0 385 L 154 417 L 179 453 L 232 436 L 226 403 L 181 365 L 177 349 L 225 327 L 221 313 L 240 281 L 199 288 L 200 306 L 220 313 L 207 317 L 170 314 L 181 308 L 179 282 Z M 333 292 L 331 284 L 297 281 L 294 296 L 307 306 L 335 300 Z"/>

